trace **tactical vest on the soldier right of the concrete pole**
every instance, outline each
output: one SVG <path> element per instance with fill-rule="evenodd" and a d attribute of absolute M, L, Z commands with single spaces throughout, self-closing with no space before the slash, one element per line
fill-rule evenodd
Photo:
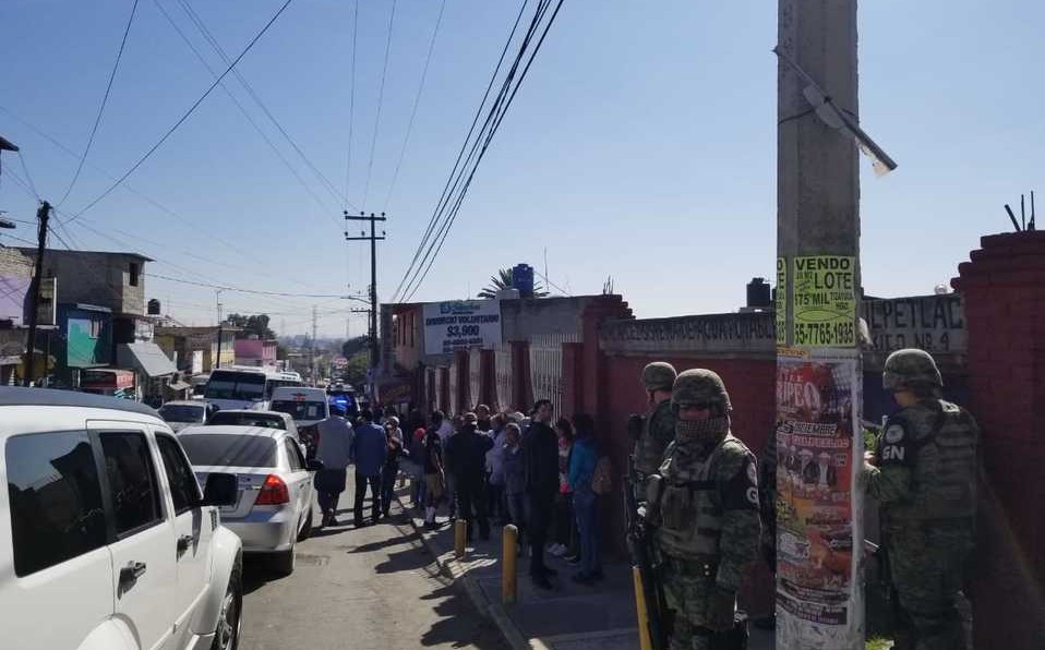
<path fill-rule="evenodd" d="M 976 423 L 957 405 L 939 400 L 939 406 L 932 432 L 914 441 L 912 496 L 890 513 L 896 519 L 957 519 L 976 514 Z"/>

